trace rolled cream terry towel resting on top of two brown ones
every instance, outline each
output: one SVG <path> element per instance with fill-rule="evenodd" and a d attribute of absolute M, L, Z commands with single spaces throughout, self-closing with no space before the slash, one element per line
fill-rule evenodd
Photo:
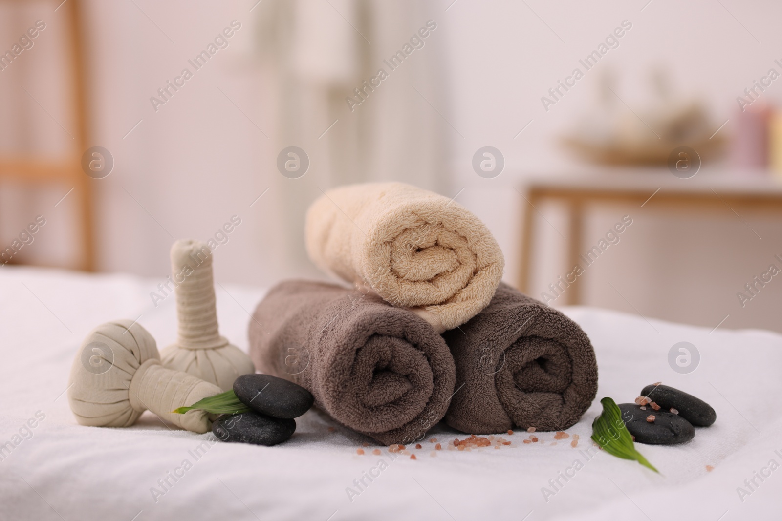
<path fill-rule="evenodd" d="M 307 211 L 310 259 L 411 309 L 442 333 L 489 304 L 502 278 L 497 241 L 461 205 L 401 183 L 325 192 Z"/>

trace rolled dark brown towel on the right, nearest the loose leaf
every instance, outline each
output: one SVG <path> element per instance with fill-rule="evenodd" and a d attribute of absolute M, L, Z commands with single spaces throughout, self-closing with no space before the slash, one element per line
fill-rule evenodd
<path fill-rule="evenodd" d="M 446 423 L 471 434 L 564 430 L 597 392 L 597 362 L 571 319 L 500 284 L 490 305 L 443 334 L 457 384 Z"/>

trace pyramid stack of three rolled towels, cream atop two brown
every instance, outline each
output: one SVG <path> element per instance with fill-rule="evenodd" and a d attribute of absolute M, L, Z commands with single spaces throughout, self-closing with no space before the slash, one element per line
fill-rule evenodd
<path fill-rule="evenodd" d="M 400 183 L 335 188 L 310 206 L 305 241 L 353 287 L 278 284 L 250 321 L 250 354 L 339 423 L 382 444 L 442 419 L 469 434 L 564 430 L 594 399 L 587 335 L 500 282 L 497 241 L 453 200 Z"/>

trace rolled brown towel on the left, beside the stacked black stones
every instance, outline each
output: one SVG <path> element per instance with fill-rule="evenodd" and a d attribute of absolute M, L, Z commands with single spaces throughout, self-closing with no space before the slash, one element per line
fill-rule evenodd
<path fill-rule="evenodd" d="M 283 282 L 253 313 L 249 343 L 260 372 L 306 387 L 332 418 L 382 444 L 422 437 L 454 392 L 443 338 L 374 294 Z"/>

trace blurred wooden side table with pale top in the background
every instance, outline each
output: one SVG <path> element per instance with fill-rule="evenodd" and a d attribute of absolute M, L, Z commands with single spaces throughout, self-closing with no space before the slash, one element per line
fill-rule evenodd
<path fill-rule="evenodd" d="M 589 206 L 637 205 L 638 208 L 665 208 L 682 213 L 711 210 L 735 215 L 741 220 L 750 213 L 782 214 L 782 180 L 759 173 L 742 176 L 701 171 L 690 179 L 679 179 L 668 170 L 609 170 L 606 173 L 533 177 L 519 193 L 524 221 L 518 286 L 525 293 L 530 289 L 536 216 L 541 215 L 537 206 L 543 201 L 565 205 L 568 269 L 581 264 L 579 256 L 585 253 L 583 220 Z M 565 304 L 583 303 L 580 284 L 578 278 L 570 284 L 565 292 Z"/>

